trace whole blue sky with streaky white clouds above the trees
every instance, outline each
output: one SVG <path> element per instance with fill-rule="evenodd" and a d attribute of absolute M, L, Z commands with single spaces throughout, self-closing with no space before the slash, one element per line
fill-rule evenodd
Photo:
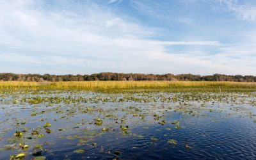
<path fill-rule="evenodd" d="M 256 1 L 1 0 L 0 72 L 256 76 Z"/>

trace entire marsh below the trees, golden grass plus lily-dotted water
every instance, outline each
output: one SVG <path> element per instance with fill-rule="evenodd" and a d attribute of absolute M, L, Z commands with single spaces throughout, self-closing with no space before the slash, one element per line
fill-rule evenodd
<path fill-rule="evenodd" d="M 0 159 L 253 159 L 254 83 L 1 82 Z"/>

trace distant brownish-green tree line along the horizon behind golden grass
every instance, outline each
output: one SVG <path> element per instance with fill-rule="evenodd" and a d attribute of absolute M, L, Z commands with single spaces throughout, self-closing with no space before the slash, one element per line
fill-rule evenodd
<path fill-rule="evenodd" d="M 256 82 L 256 76 L 230 76 L 213 74 L 200 76 L 195 74 L 123 74 L 103 72 L 90 75 L 51 75 L 51 74 L 12 74 L 0 73 L 0 81 L 236 81 Z"/>

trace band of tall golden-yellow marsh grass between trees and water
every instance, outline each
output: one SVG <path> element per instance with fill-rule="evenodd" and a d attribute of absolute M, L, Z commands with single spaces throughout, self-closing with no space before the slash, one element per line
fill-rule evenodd
<path fill-rule="evenodd" d="M 0 88 L 87 90 L 92 92 L 255 92 L 256 83 L 210 81 L 68 81 L 36 83 L 0 81 Z"/>

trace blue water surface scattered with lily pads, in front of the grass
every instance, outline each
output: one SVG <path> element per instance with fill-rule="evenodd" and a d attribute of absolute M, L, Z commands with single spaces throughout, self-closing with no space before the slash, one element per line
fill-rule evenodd
<path fill-rule="evenodd" d="M 47 102 L 10 104 L 3 100 L 0 159 L 20 153 L 26 154 L 24 159 L 256 159 L 254 98 L 243 99 L 243 103 L 216 100 L 214 104 L 212 99 L 204 103 L 60 102 L 48 107 Z M 95 125 L 95 118 L 102 125 Z M 19 124 L 22 120 L 26 124 Z M 43 127 L 46 122 L 51 127 Z M 121 127 L 126 126 L 124 131 Z M 22 137 L 13 136 L 24 127 L 27 131 Z M 47 128 L 51 133 L 45 132 Z M 44 137 L 31 136 L 35 130 Z M 19 143 L 29 145 L 28 149 L 22 150 Z M 36 145 L 42 147 L 38 155 Z"/>

